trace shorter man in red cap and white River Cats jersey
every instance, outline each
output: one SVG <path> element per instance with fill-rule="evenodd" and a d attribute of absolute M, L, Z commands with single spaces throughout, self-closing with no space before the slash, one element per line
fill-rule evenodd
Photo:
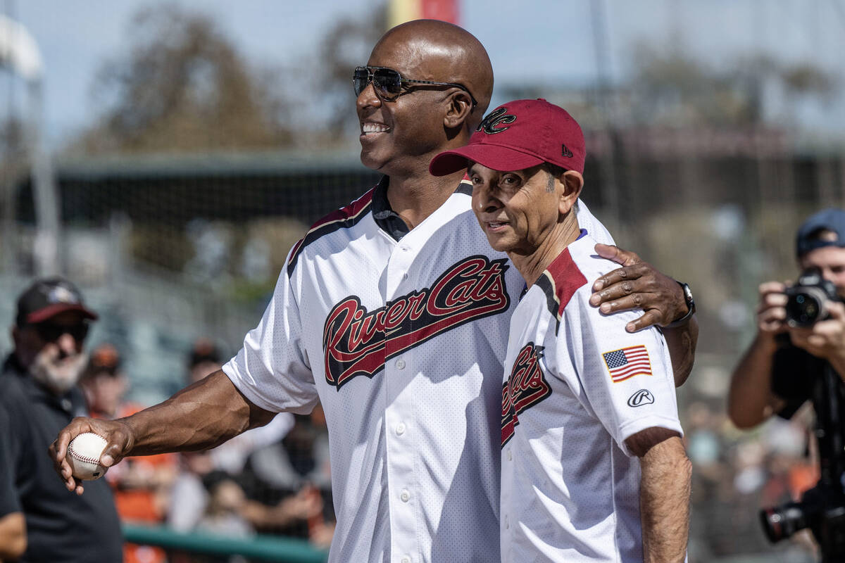
<path fill-rule="evenodd" d="M 637 313 L 604 317 L 588 280 L 616 267 L 575 215 L 586 149 L 578 123 L 546 100 L 490 113 L 433 174 L 467 170 L 472 210 L 527 292 L 504 361 L 502 561 L 684 561 L 690 461 L 672 362 Z"/>

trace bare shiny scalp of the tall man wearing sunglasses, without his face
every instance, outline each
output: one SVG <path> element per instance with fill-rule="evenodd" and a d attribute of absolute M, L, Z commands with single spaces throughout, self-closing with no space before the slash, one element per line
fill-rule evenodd
<path fill-rule="evenodd" d="M 493 66 L 474 35 L 437 19 L 415 19 L 388 30 L 373 47 L 373 55 L 381 49 L 403 51 L 417 74 L 428 75 L 413 78 L 466 86 L 478 102 L 467 125 L 474 128 L 481 122 L 493 95 Z"/>

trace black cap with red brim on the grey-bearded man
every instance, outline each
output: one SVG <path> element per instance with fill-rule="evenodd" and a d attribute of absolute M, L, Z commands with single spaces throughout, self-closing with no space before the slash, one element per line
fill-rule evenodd
<path fill-rule="evenodd" d="M 82 294 L 74 284 L 60 277 L 36 279 L 18 298 L 19 327 L 44 322 L 64 311 L 79 311 L 92 321 L 97 314 L 85 306 Z"/>

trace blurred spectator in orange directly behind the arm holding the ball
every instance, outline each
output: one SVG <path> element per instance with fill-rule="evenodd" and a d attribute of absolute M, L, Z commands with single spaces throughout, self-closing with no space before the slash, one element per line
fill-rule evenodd
<path fill-rule="evenodd" d="M 88 366 L 79 382 L 88 402 L 90 415 L 118 419 L 137 413 L 142 405 L 124 401 L 128 377 L 121 369 L 121 359 L 112 344 L 100 344 L 91 351 Z M 177 473 L 173 454 L 127 457 L 109 469 L 106 479 L 114 489 L 117 514 L 124 522 L 163 522 L 170 487 Z M 163 549 L 125 544 L 125 563 L 164 563 Z"/>

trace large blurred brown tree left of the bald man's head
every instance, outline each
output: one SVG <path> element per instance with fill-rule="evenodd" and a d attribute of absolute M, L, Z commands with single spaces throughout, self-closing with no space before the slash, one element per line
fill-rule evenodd
<path fill-rule="evenodd" d="M 292 142 L 275 74 L 250 68 L 209 17 L 175 5 L 144 8 L 128 53 L 95 78 L 104 107 L 68 152 L 271 149 Z"/>

